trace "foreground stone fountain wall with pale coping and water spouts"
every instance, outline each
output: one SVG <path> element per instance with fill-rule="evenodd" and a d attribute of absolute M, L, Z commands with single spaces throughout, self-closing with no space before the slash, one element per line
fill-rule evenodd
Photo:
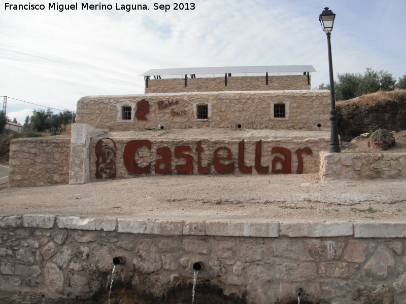
<path fill-rule="evenodd" d="M 149 293 L 146 302 L 158 303 L 183 288 L 190 302 L 192 265 L 200 261 L 197 297 L 210 297 L 198 291 L 211 284 L 249 304 L 297 303 L 298 291 L 306 303 L 401 304 L 405 251 L 406 222 L 6 216 L 0 290 L 107 302 L 112 260 L 122 256 L 115 298 Z"/>

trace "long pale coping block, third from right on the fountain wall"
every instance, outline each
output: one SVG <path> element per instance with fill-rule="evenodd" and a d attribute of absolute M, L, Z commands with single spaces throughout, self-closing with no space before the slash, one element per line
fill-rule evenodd
<path fill-rule="evenodd" d="M 279 236 L 279 223 L 268 221 L 207 221 L 206 234 L 209 236 L 264 237 Z"/>

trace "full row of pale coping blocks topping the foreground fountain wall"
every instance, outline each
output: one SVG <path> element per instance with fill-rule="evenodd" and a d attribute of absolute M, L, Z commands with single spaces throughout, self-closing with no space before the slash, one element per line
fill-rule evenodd
<path fill-rule="evenodd" d="M 55 220 L 56 219 L 56 220 Z M 162 220 L 25 214 L 0 216 L 0 228 L 32 227 L 163 236 L 406 238 L 406 221 Z"/>

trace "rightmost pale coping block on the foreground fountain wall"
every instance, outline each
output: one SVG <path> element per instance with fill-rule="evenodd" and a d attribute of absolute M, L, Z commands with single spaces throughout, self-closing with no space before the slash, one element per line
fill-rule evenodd
<path fill-rule="evenodd" d="M 355 238 L 406 238 L 406 221 L 356 221 Z"/>

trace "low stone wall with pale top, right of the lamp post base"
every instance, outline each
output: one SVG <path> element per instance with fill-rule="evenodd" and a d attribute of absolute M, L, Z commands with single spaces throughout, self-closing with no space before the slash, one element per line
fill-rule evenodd
<path fill-rule="evenodd" d="M 320 153 L 320 178 L 406 178 L 406 153 Z"/>

